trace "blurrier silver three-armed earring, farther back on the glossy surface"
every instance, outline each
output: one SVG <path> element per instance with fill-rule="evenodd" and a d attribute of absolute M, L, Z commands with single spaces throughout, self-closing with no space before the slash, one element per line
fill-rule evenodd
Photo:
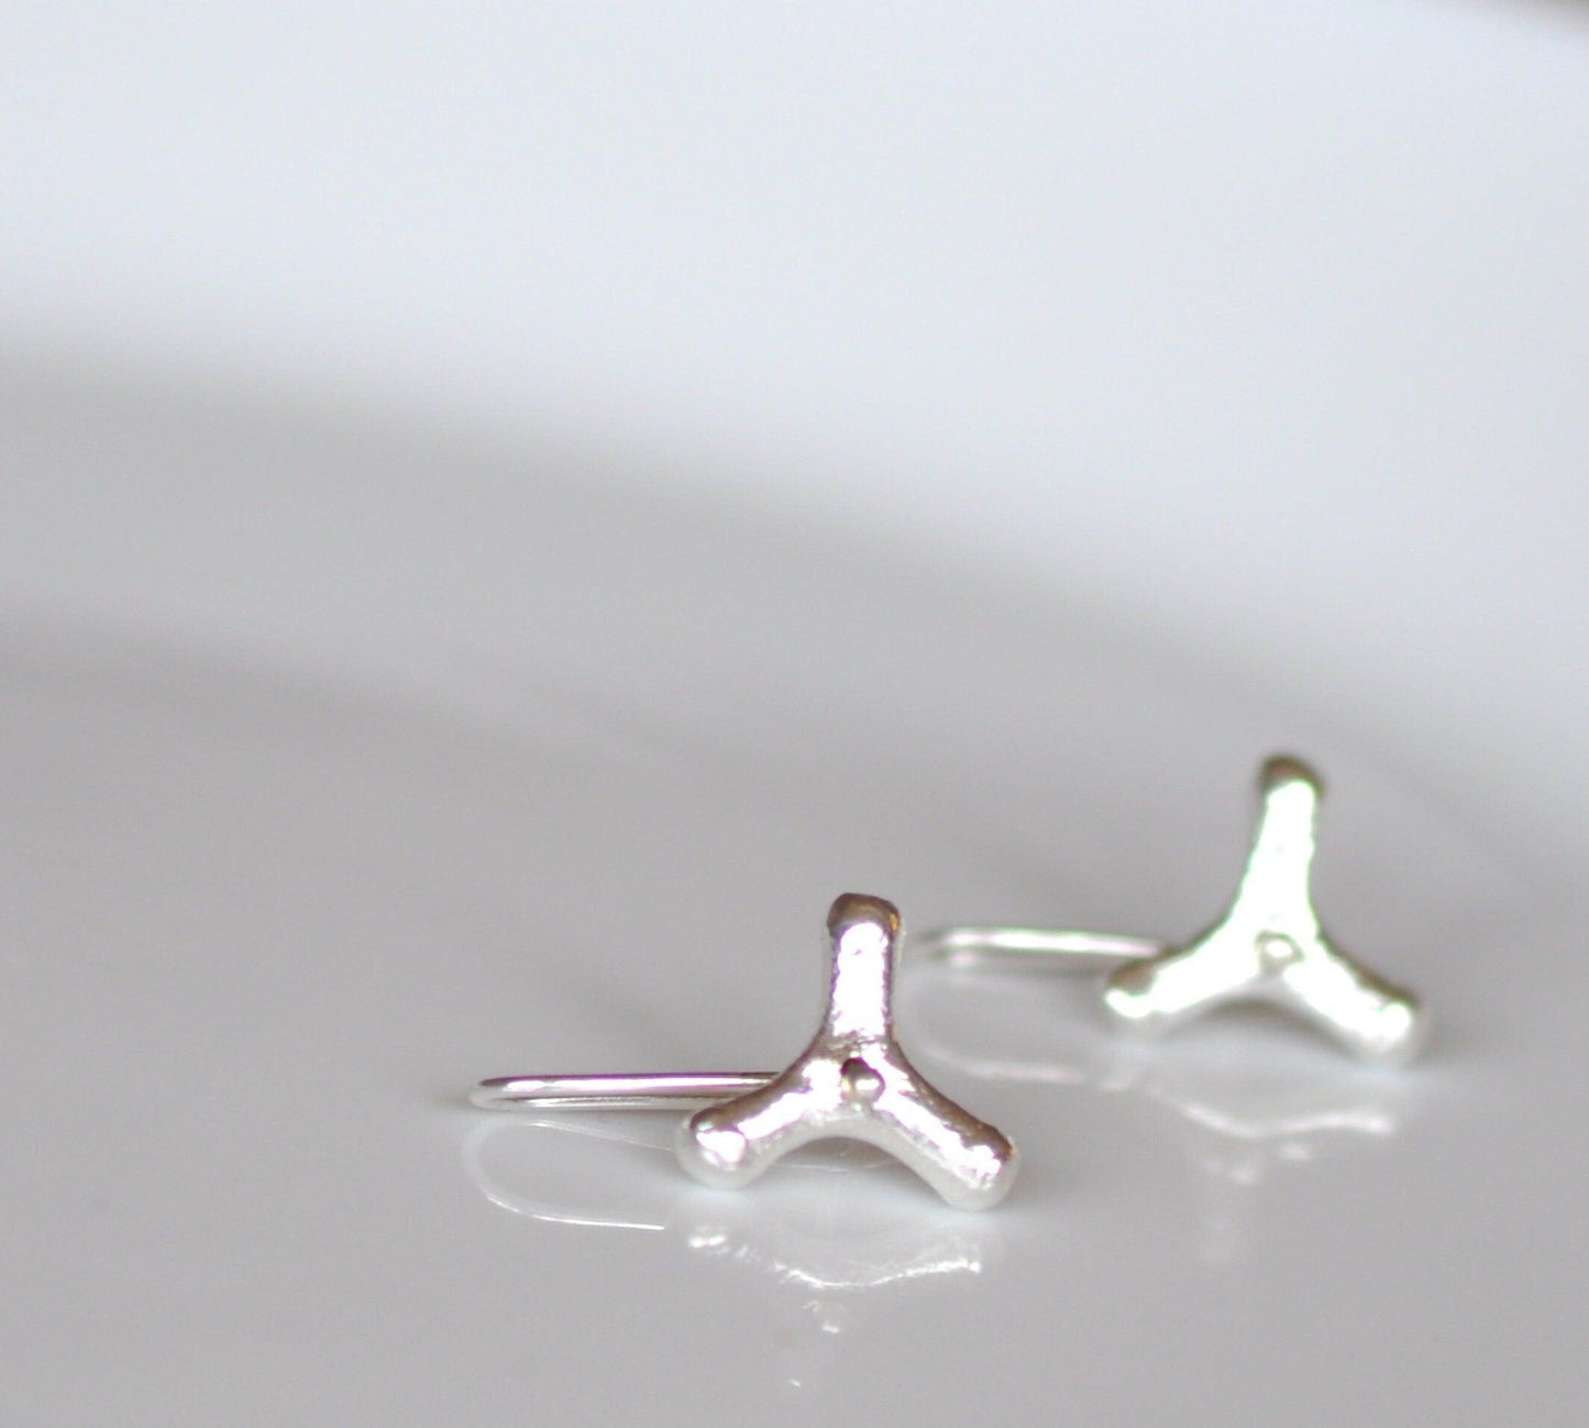
<path fill-rule="evenodd" d="M 1211 1007 L 1274 1002 L 1317 1022 L 1370 1061 L 1405 1062 L 1424 1043 L 1417 997 L 1343 953 L 1319 925 L 1309 876 L 1322 779 L 1297 759 L 1270 759 L 1260 816 L 1236 897 L 1208 932 L 1179 946 L 1088 932 L 945 927 L 917 946 L 957 964 L 998 954 L 1114 964 L 1103 1003 L 1117 1022 L 1155 1034 Z"/>

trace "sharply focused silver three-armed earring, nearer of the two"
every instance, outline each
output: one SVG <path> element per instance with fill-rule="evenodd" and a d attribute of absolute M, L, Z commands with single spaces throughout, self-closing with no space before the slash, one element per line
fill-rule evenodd
<path fill-rule="evenodd" d="M 891 988 L 903 927 L 879 897 L 828 911 L 828 1010 L 782 1072 L 499 1077 L 470 1097 L 494 1110 L 704 1107 L 679 1131 L 679 1159 L 709 1185 L 739 1186 L 812 1140 L 864 1140 L 898 1156 L 949 1204 L 982 1210 L 1015 1177 L 1015 1147 L 930 1086 L 895 1040 Z"/>

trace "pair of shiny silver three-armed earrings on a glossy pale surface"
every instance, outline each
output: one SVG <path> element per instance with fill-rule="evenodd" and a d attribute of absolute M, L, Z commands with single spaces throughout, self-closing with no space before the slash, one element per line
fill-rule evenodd
<path fill-rule="evenodd" d="M 961 965 L 1019 957 L 1109 967 L 1103 1007 L 1139 1034 L 1170 1030 L 1227 1002 L 1263 1000 L 1316 1022 L 1365 1059 L 1408 1061 L 1427 1032 L 1417 999 L 1343 953 L 1313 908 L 1322 781 L 1295 759 L 1271 759 L 1258 792 L 1258 825 L 1236 895 L 1219 922 L 1187 943 L 945 927 L 925 933 L 914 951 Z M 828 940 L 822 1026 L 782 1072 L 497 1077 L 470 1099 L 491 1110 L 691 1110 L 679 1129 L 679 1159 L 707 1185 L 747 1185 L 782 1154 L 837 1137 L 890 1151 L 958 1209 L 998 1204 L 1015 1178 L 1014 1143 L 928 1083 L 895 1035 L 891 991 L 904 946 L 898 908 L 844 894 L 828 911 Z"/>

